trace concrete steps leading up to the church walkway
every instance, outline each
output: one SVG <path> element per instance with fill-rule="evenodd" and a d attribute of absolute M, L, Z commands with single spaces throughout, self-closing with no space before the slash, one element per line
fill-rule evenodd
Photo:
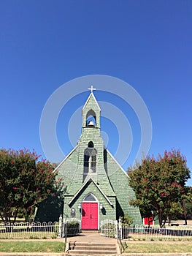
<path fill-rule="evenodd" d="M 69 242 L 69 255 L 117 255 L 116 244 Z"/>

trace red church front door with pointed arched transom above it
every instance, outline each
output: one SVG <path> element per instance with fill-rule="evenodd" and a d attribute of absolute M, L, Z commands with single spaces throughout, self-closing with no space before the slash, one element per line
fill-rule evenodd
<path fill-rule="evenodd" d="M 81 229 L 98 230 L 98 201 L 91 193 L 86 195 L 82 201 Z"/>

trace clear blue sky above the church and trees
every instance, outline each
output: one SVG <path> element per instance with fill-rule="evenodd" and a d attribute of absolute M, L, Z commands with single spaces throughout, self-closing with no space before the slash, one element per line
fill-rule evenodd
<path fill-rule="evenodd" d="M 50 95 L 74 78 L 108 75 L 129 83 L 144 100 L 153 126 L 149 154 L 180 149 L 191 169 L 191 13 L 191 0 L 0 1 L 0 147 L 34 148 L 45 157 L 39 122 Z M 85 103 L 89 86 L 59 114 L 57 135 L 64 154 L 72 149 L 70 116 Z M 117 106 L 131 125 L 126 170 L 139 146 L 139 121 L 117 95 L 94 94 Z M 77 120 L 79 134 L 80 125 Z M 117 128 L 107 118 L 101 125 L 114 154 Z"/>

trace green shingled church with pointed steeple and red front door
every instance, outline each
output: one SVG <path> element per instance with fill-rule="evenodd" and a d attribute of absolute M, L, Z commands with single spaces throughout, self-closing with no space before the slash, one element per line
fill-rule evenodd
<path fill-rule="evenodd" d="M 101 220 L 115 220 L 125 214 L 134 218 L 134 224 L 142 225 L 139 208 L 129 204 L 135 194 L 129 187 L 128 175 L 104 146 L 100 114 L 91 86 L 82 108 L 82 134 L 77 146 L 55 169 L 66 185 L 64 202 L 62 206 L 57 201 L 50 202 L 48 216 L 55 216 L 53 211 L 57 211 L 58 217 L 62 211 L 64 219 L 81 219 L 82 230 L 98 230 Z M 45 209 L 46 203 L 37 215 L 45 216 Z"/>

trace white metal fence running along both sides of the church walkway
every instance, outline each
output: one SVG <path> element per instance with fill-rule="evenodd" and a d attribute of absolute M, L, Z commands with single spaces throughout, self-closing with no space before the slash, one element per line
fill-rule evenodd
<path fill-rule="evenodd" d="M 66 238 L 80 233 L 79 219 L 62 219 L 58 222 L 0 223 L 0 239 Z M 122 240 L 140 241 L 192 241 L 192 226 L 146 227 L 122 225 L 116 220 L 100 223 L 101 236 Z"/>

